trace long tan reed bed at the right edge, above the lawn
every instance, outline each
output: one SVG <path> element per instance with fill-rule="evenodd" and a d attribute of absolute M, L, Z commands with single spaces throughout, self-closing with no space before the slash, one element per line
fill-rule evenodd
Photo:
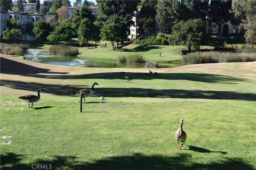
<path fill-rule="evenodd" d="M 256 54 L 229 52 L 195 52 L 182 57 L 184 64 L 252 62 L 256 61 Z"/>

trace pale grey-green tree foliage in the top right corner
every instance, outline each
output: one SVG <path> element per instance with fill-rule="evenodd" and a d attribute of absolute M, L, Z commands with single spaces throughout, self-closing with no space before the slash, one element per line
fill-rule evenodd
<path fill-rule="evenodd" d="M 245 29 L 244 38 L 249 44 L 256 44 L 256 0 L 252 1 L 232 1 L 232 8 L 235 16 L 242 23 L 242 29 Z"/>

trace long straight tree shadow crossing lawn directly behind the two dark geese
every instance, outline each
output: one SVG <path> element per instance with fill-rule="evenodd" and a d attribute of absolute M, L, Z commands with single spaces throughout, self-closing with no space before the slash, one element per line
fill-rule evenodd
<path fill-rule="evenodd" d="M 43 88 L 44 93 L 69 96 L 70 92 L 82 88 L 60 84 L 42 84 L 14 80 L 1 80 L 1 86 L 19 90 Z M 36 91 L 36 90 L 35 90 Z M 93 96 L 105 97 L 160 97 L 160 98 L 198 98 L 255 101 L 256 95 L 234 91 L 180 90 L 180 89 L 145 89 L 145 88 L 95 88 Z M 101 102 L 102 103 L 102 102 Z"/>

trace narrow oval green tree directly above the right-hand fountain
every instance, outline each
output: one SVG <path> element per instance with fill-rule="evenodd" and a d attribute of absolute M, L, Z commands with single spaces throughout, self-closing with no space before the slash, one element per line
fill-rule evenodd
<path fill-rule="evenodd" d="M 81 21 L 81 24 L 78 28 L 78 41 L 80 45 L 87 45 L 89 49 L 89 41 L 92 40 L 92 32 L 93 32 L 93 23 L 85 18 Z"/>

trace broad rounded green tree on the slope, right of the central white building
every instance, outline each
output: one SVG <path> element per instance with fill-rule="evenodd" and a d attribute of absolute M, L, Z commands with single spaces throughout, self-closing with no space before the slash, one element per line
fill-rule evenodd
<path fill-rule="evenodd" d="M 188 51 L 200 49 L 205 40 L 205 27 L 202 19 L 179 21 L 172 27 L 171 45 L 186 46 Z"/>

